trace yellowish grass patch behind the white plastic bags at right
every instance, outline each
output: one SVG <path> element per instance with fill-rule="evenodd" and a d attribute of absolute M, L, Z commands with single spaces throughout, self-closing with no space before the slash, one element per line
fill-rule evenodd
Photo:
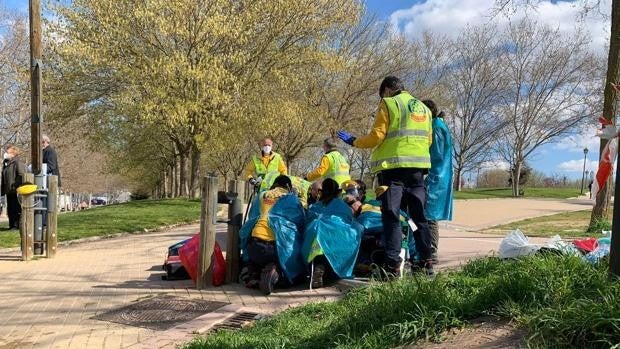
<path fill-rule="evenodd" d="M 561 237 L 600 237 L 601 230 L 611 229 L 611 220 L 602 222 L 594 231 L 587 231 L 590 224 L 591 210 L 564 212 L 551 216 L 524 219 L 513 223 L 498 225 L 485 230 L 486 233 L 506 233 L 519 228 L 527 236 L 553 236 Z M 611 217 L 611 214 L 610 214 Z M 610 218 L 611 219 L 611 218 Z"/>

